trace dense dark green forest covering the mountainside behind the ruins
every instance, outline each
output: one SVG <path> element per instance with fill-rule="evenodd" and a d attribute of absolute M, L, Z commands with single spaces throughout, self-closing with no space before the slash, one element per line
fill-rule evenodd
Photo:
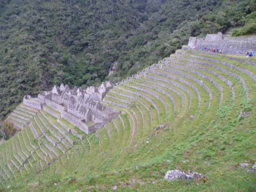
<path fill-rule="evenodd" d="M 190 36 L 255 33 L 255 10 L 255 0 L 1 0 L 0 120 L 25 94 L 118 82 Z"/>

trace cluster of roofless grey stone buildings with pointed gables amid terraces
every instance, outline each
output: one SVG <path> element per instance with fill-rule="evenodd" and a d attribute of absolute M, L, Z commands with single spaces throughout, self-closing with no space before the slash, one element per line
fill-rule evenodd
<path fill-rule="evenodd" d="M 120 114 L 119 110 L 100 102 L 112 88 L 109 81 L 103 82 L 98 88 L 90 86 L 86 90 L 76 86 L 70 89 L 64 84 L 54 85 L 51 91 L 38 94 L 38 98 L 24 96 L 23 103 L 39 110 L 44 109 L 56 118 L 64 118 L 89 134 Z M 59 113 L 45 107 L 45 104 Z"/>

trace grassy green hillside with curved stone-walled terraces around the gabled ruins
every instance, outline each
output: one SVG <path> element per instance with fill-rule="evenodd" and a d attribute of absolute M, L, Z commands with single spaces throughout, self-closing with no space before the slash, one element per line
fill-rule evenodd
<path fill-rule="evenodd" d="M 21 104 L 10 121 L 25 128 L 0 145 L 1 188 L 255 190 L 237 165 L 256 160 L 256 62 L 204 53 L 176 51 L 120 82 L 103 103 L 122 113 L 95 134 Z M 164 181 L 176 166 L 209 179 Z"/>

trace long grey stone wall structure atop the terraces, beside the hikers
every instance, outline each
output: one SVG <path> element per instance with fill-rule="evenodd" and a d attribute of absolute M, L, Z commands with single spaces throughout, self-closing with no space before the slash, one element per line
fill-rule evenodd
<path fill-rule="evenodd" d="M 218 32 L 218 34 L 207 34 L 205 38 L 190 37 L 188 47 L 191 49 L 215 48 L 224 50 L 226 54 L 244 55 L 246 51 L 256 52 L 256 36 L 230 38 Z"/>

